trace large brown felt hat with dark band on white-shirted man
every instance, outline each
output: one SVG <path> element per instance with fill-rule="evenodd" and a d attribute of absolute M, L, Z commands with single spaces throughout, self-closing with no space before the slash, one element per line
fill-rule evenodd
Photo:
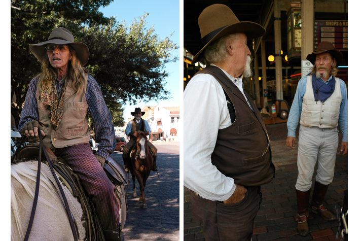
<path fill-rule="evenodd" d="M 254 22 L 240 22 L 231 9 L 223 4 L 213 4 L 205 8 L 198 19 L 201 33 L 201 42 L 204 47 L 195 55 L 192 64 L 198 61 L 206 47 L 224 36 L 243 32 L 248 40 L 261 37 L 265 28 Z"/>

